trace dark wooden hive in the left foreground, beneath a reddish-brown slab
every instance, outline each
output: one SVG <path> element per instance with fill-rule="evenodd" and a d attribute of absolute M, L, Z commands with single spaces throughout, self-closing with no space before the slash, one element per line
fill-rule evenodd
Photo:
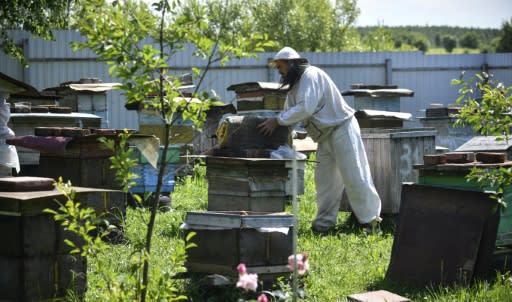
<path fill-rule="evenodd" d="M 75 187 L 76 200 L 107 218 L 125 215 L 124 194 L 119 191 Z M 69 255 L 65 239 L 79 244 L 64 232 L 46 208 L 57 209 L 65 202 L 57 190 L 0 192 L 0 227 L 8 230 L 0 246 L 0 300 L 40 301 L 63 297 L 74 288 L 86 290 L 87 260 Z"/>

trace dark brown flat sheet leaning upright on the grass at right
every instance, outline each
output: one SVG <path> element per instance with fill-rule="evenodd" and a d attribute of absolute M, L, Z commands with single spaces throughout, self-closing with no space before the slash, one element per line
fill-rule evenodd
<path fill-rule="evenodd" d="M 499 223 L 495 206 L 488 193 L 404 183 L 386 277 L 424 286 L 487 276 Z"/>

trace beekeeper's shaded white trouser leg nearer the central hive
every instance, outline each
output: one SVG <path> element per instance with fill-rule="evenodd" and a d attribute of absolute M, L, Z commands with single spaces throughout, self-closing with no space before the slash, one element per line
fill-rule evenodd
<path fill-rule="evenodd" d="M 336 224 L 343 193 L 343 180 L 333 154 L 327 141 L 318 144 L 315 168 L 317 213 L 313 225 L 324 229 Z"/>

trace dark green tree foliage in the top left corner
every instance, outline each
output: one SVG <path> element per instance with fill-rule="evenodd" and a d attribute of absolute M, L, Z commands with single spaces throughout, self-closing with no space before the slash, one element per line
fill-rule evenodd
<path fill-rule="evenodd" d="M 23 49 L 9 37 L 8 30 L 23 29 L 43 39 L 52 40 L 55 28 L 67 26 L 75 0 L 5 0 L 0 5 L 0 47 L 8 55 L 27 64 Z"/>

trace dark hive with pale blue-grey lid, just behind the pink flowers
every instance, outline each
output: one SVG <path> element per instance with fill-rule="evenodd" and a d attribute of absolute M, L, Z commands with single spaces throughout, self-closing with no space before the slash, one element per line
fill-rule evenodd
<path fill-rule="evenodd" d="M 236 276 L 249 272 L 283 274 L 292 254 L 293 215 L 236 211 L 188 212 L 185 235 L 194 232 L 197 247 L 187 250 L 189 272 Z"/>

